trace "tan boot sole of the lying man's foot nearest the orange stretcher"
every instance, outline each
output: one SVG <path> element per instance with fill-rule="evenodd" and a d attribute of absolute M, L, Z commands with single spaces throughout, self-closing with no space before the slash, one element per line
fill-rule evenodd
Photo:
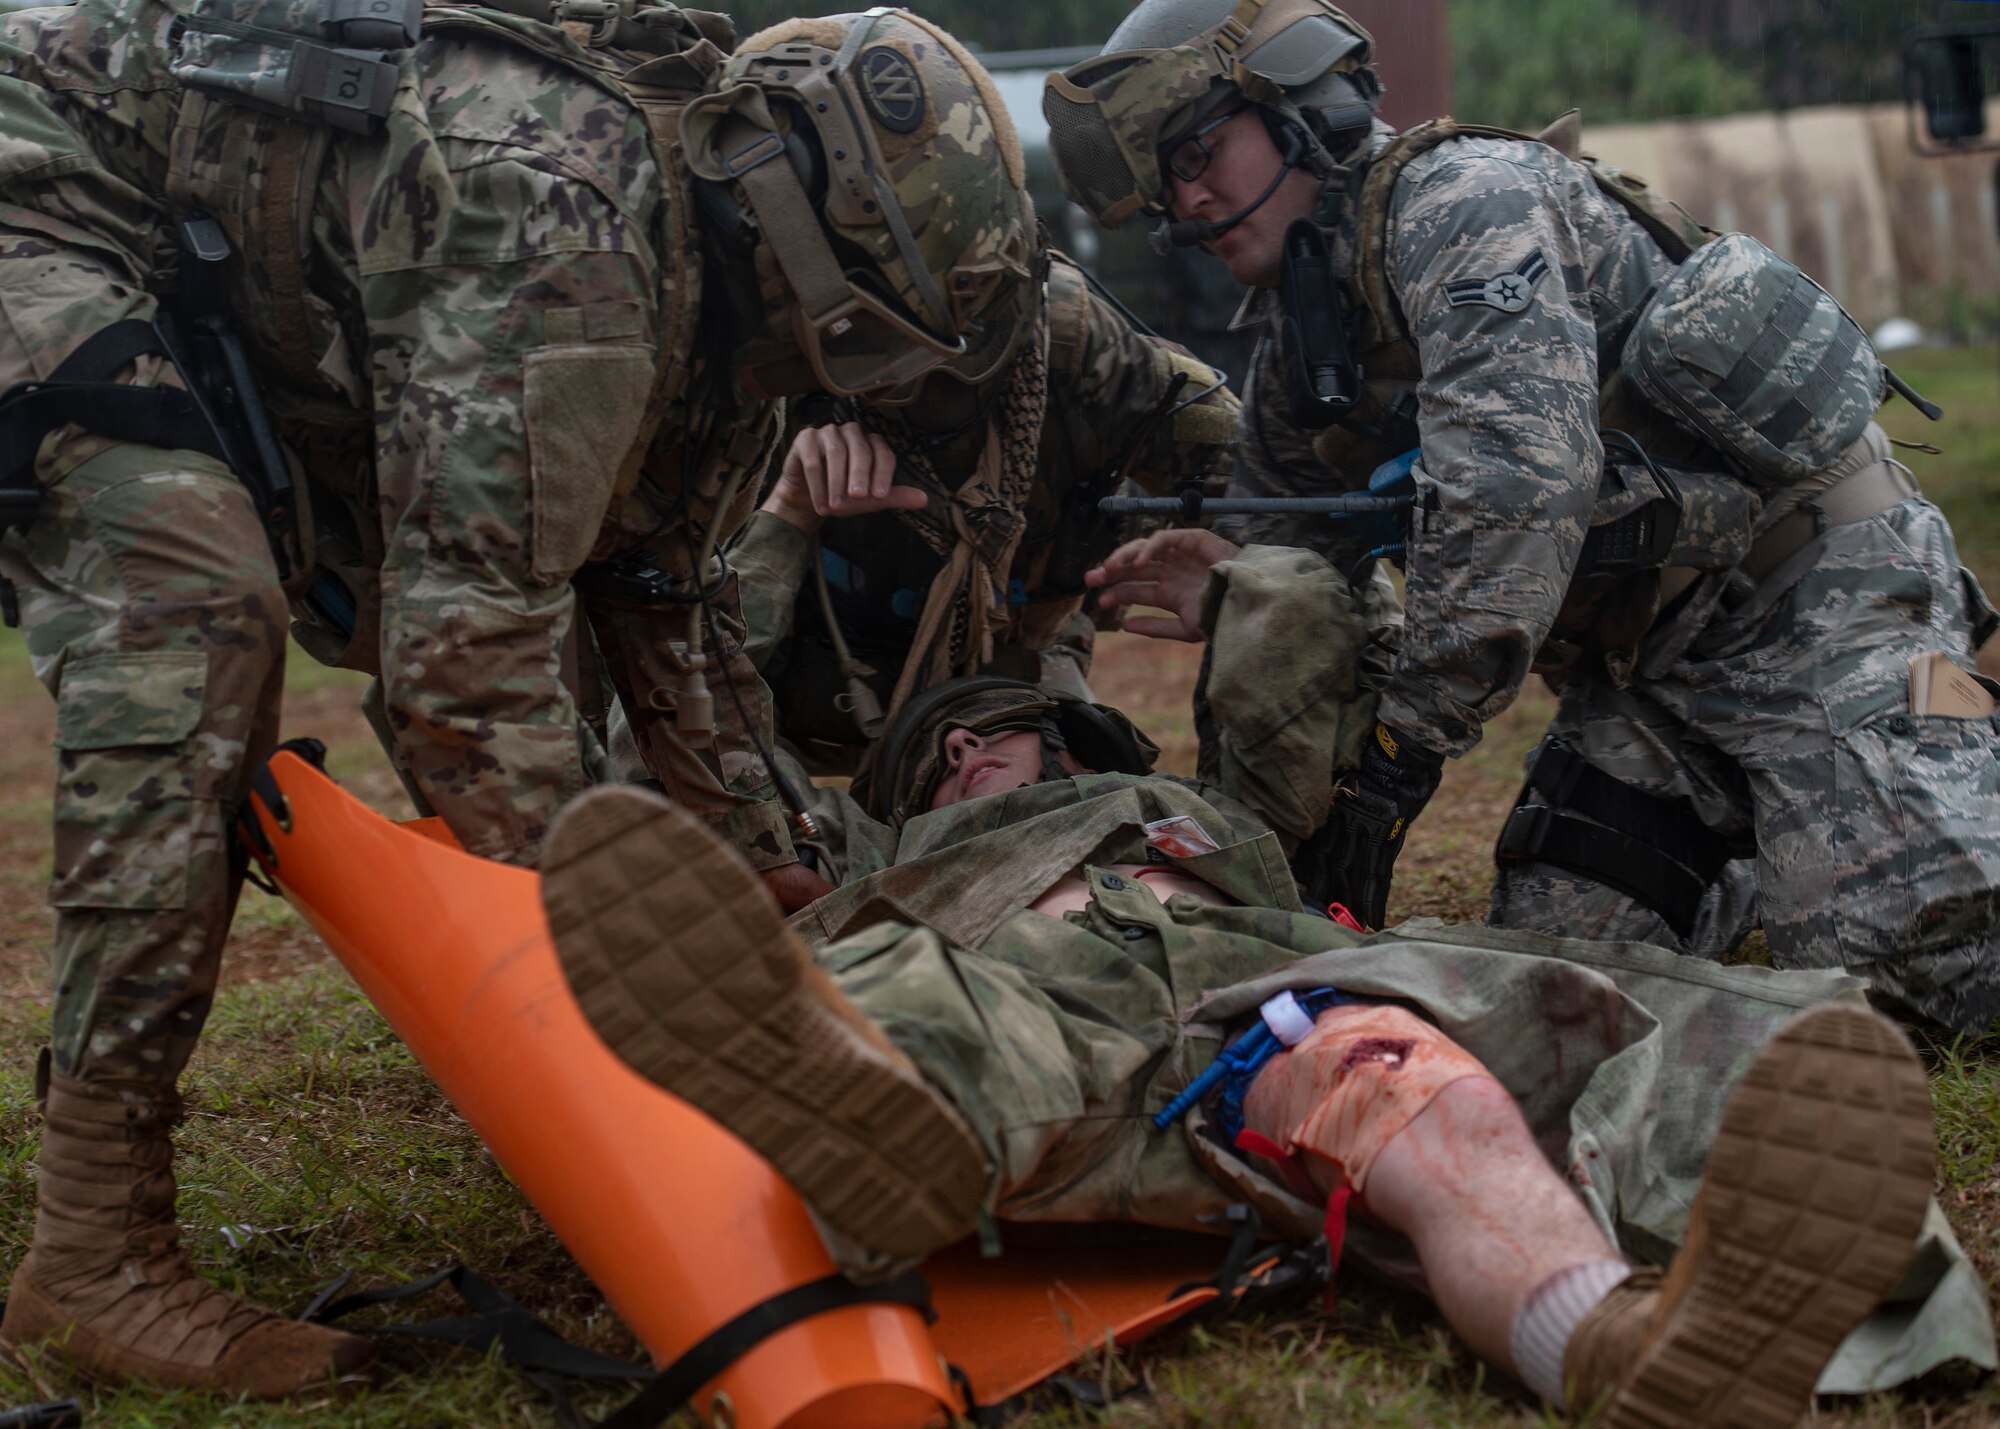
<path fill-rule="evenodd" d="M 986 1157 L 972 1133 L 856 1025 L 706 825 L 596 789 L 550 833 L 542 907 L 604 1043 L 746 1141 L 834 1231 L 902 1259 L 974 1227 Z"/>

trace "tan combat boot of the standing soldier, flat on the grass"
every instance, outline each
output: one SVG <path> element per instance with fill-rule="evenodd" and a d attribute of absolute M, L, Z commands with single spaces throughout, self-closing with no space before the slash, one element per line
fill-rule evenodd
<path fill-rule="evenodd" d="M 360 1369 L 366 1339 L 282 1319 L 208 1285 L 174 1221 L 180 1099 L 50 1077 L 40 1211 L 0 1341 L 50 1341 L 110 1383 L 282 1399 Z"/>

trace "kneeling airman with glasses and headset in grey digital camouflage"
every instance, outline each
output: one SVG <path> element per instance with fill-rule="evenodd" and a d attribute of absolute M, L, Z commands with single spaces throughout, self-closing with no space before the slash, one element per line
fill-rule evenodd
<path fill-rule="evenodd" d="M 1760 244 L 1582 158 L 1574 116 L 1392 136 L 1370 56 L 1324 0 L 1146 0 L 1044 102 L 1078 202 L 1170 214 L 1262 290 L 1238 492 L 1356 490 L 1420 448 L 1400 656 L 1318 877 L 1380 923 L 1444 759 L 1540 670 L 1562 706 L 1498 845 L 1496 925 L 1686 947 L 1754 857 L 1780 967 L 1984 1027 L 1992 702 L 1912 710 L 1912 662 L 1970 688 L 1996 616 L 1868 422 L 1894 376 Z M 1286 310 L 1280 284 L 1312 280 L 1294 242 L 1336 280 Z M 1692 352 L 1696 400 L 1662 386 L 1662 344 Z M 1370 546 L 1324 518 L 1226 530 L 1344 570 Z"/>

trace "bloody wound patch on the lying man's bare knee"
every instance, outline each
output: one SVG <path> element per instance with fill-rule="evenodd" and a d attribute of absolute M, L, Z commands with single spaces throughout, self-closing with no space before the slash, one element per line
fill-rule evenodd
<path fill-rule="evenodd" d="M 1466 1077 L 1492 1073 L 1422 1017 L 1380 1003 L 1330 1007 L 1250 1083 L 1244 1123 L 1296 1155 L 1322 1193 L 1350 1185 L 1358 1195 L 1382 1147 Z"/>

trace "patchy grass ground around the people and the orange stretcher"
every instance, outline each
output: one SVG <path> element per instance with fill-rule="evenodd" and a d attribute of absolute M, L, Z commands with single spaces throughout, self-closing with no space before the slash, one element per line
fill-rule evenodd
<path fill-rule="evenodd" d="M 1898 436 L 1928 436 L 1940 456 L 1912 456 L 1952 514 L 1962 546 L 2000 590 L 2000 376 L 1992 352 L 1904 354 L 1898 368 L 1950 408 L 1940 428 L 1900 404 Z M 1196 652 L 1108 638 L 1098 684 L 1190 769 L 1188 688 Z M 358 680 L 292 662 L 284 733 L 314 735 L 342 783 L 384 813 L 402 795 L 354 712 Z M 1478 919 L 1494 831 L 1512 803 L 1520 757 L 1550 702 L 1540 690 L 1496 721 L 1458 761 L 1398 869 L 1392 917 Z M 34 1049 L 46 1035 L 48 741 L 52 710 L 18 638 L 0 640 L 0 1265 L 26 1247 L 34 1203 Z M 638 1347 L 506 1173 L 434 1091 L 388 1025 L 360 999 L 318 939 L 256 891 L 224 963 L 222 995 L 188 1075 L 180 1133 L 186 1241 L 218 1283 L 298 1309 L 340 1271 L 382 1283 L 464 1259 L 558 1331 L 594 1349 Z M 1938 1193 L 1958 1235 L 2000 1293 L 2000 1029 L 1930 1047 L 1940 1125 Z M 228 1229 L 228 1233 L 224 1233 Z M 410 1311 L 414 1315 L 418 1311 Z M 444 1313 L 426 1307 L 422 1313 Z M 406 1317 L 408 1317 L 406 1315 Z M 548 1403 L 506 1365 L 464 1351 L 390 1347 L 382 1379 L 356 1395 L 296 1405 L 238 1405 L 200 1395 L 96 1391 L 52 1361 L 0 1369 L 0 1407 L 82 1395 L 92 1429 L 292 1425 L 324 1429 L 550 1423 Z M 1048 1411 L 1032 1429 L 1106 1423 L 1192 1425 L 1490 1425 L 1544 1423 L 1512 1387 L 1480 1371 L 1426 1305 L 1356 1283 L 1332 1313 L 1250 1319 L 1162 1335 L 1106 1383 L 1150 1395 L 1096 1415 Z M 608 1407 L 618 1393 L 584 1397 Z M 1912 1393 L 1826 1405 L 1838 1425 L 2000 1425 L 2000 1389 L 1942 1379 Z"/>

